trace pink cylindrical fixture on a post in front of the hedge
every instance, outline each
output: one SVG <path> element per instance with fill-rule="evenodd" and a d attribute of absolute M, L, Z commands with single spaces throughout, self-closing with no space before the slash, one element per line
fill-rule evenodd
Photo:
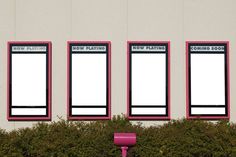
<path fill-rule="evenodd" d="M 114 133 L 114 144 L 121 147 L 122 157 L 126 157 L 128 146 L 136 144 L 136 133 Z"/>

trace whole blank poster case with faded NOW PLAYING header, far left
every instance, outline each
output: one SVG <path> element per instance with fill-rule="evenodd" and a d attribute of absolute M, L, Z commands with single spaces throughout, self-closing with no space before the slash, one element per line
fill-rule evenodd
<path fill-rule="evenodd" d="M 9 42 L 8 119 L 49 120 L 51 44 Z"/>

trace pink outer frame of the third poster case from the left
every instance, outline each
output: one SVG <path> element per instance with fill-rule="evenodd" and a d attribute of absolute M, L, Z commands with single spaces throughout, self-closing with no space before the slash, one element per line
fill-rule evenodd
<path fill-rule="evenodd" d="M 129 44 L 144 44 L 144 43 L 156 43 L 156 44 L 167 44 L 168 45 L 168 81 L 167 81 L 167 84 L 168 84 L 168 104 L 167 104 L 167 107 L 168 107 L 168 116 L 130 116 L 130 108 L 129 108 L 129 98 L 130 98 L 130 94 L 129 94 L 129 85 L 130 85 L 130 81 L 129 81 Z M 128 119 L 130 120 L 171 120 L 171 116 L 170 116 L 170 112 L 171 112 L 171 107 L 170 107 L 170 97 L 171 97 L 171 94 L 170 94 L 170 90 L 171 90 L 171 83 L 170 83 L 170 66 L 171 66 L 171 63 L 170 63 L 170 41 L 127 41 L 127 113 L 126 113 L 126 116 L 128 117 Z"/>

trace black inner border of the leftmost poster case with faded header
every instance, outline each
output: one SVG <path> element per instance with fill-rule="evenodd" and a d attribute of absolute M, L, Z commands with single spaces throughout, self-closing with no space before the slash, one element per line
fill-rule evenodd
<path fill-rule="evenodd" d="M 45 46 L 46 47 L 46 51 L 37 51 L 37 52 L 30 52 L 30 51 L 14 51 L 12 52 L 12 47 L 13 46 Z M 10 63 L 9 63 L 9 116 L 10 117 L 48 117 L 49 116 L 49 111 L 48 111 L 48 107 L 49 107 L 49 102 L 48 102 L 48 93 L 49 93 L 49 89 L 48 89 L 48 64 L 49 64 L 49 59 L 48 59 L 48 52 L 49 52 L 49 44 L 48 43 L 27 43 L 27 44 L 21 44 L 21 43 L 10 43 Z M 12 106 L 12 54 L 46 54 L 46 104 L 42 105 L 42 106 Z M 12 108 L 45 108 L 46 109 L 46 115 L 12 115 Z"/>

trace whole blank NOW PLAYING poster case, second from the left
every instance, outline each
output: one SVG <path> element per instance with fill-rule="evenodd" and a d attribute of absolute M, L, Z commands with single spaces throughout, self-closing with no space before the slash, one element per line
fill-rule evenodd
<path fill-rule="evenodd" d="M 70 119 L 110 118 L 110 43 L 69 42 Z"/>

